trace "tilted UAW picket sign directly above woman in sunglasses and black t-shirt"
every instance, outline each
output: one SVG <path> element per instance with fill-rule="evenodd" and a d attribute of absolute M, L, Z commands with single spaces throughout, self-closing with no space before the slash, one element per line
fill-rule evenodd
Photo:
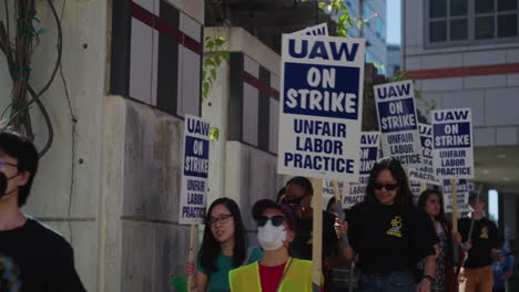
<path fill-rule="evenodd" d="M 374 86 L 384 156 L 405 168 L 421 167 L 421 144 L 413 81 Z"/>

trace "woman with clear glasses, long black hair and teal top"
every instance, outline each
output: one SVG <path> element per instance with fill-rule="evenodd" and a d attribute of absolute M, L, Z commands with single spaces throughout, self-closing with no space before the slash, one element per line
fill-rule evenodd
<path fill-rule="evenodd" d="M 228 198 L 213 201 L 207 211 L 196 271 L 187 262 L 186 274 L 195 275 L 197 292 L 228 292 L 228 271 L 263 258 L 258 248 L 245 243 L 240 208 Z"/>

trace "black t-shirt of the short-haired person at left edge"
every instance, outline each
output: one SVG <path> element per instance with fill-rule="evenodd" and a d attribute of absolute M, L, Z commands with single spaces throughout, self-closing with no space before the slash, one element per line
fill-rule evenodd
<path fill-rule="evenodd" d="M 74 269 L 71 246 L 34 219 L 28 219 L 19 228 L 0 231 L 2 274 L 10 274 L 9 279 L 0 277 L 2 292 L 14 286 L 20 286 L 22 292 L 85 291 Z"/>

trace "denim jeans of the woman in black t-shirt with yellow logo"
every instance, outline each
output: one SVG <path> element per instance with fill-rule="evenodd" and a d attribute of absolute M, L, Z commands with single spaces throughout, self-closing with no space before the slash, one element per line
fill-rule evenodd
<path fill-rule="evenodd" d="M 388 274 L 363 274 L 357 292 L 416 292 L 413 274 L 398 270 Z"/>

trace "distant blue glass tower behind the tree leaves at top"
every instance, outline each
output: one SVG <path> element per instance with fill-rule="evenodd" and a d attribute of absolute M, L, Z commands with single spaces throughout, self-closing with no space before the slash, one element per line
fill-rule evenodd
<path fill-rule="evenodd" d="M 353 38 L 366 39 L 366 62 L 384 64 L 380 73 L 391 76 L 396 65 L 399 65 L 399 54 L 394 54 L 387 44 L 387 7 L 386 0 L 345 0 L 352 18 L 368 20 L 362 29 L 349 31 Z M 395 45 L 397 46 L 397 45 Z"/>

